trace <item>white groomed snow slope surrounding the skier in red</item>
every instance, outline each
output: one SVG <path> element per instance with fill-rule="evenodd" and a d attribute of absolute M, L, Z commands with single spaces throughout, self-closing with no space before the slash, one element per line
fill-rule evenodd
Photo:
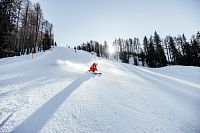
<path fill-rule="evenodd" d="M 101 76 L 86 72 L 98 62 Z M 200 133 L 200 68 L 55 48 L 0 59 L 0 132 Z"/>

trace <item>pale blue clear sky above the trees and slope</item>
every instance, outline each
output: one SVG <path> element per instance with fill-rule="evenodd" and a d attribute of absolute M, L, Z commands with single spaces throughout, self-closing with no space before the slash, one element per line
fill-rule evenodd
<path fill-rule="evenodd" d="M 150 37 L 155 30 L 185 34 L 189 40 L 200 30 L 200 0 L 31 0 L 39 2 L 45 19 L 54 25 L 59 46 L 115 38 Z"/>

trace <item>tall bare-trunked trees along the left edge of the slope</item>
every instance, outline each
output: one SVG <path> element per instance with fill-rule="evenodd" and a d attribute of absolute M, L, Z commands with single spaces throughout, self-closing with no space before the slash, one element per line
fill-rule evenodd
<path fill-rule="evenodd" d="M 52 45 L 53 24 L 44 19 L 39 3 L 0 1 L 0 58 L 45 51 Z"/>

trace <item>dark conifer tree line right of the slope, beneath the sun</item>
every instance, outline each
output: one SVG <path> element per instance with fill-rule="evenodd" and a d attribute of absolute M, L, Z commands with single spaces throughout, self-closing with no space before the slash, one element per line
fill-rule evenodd
<path fill-rule="evenodd" d="M 124 63 L 132 61 L 135 65 L 139 63 L 148 67 L 163 67 L 167 65 L 200 66 L 200 33 L 193 35 L 187 41 L 185 35 L 178 37 L 166 36 L 161 39 L 155 31 L 149 38 L 146 36 L 142 44 L 139 38 L 115 39 L 112 47 L 115 53 L 112 57 Z M 78 50 L 96 53 L 99 57 L 108 58 L 108 44 L 100 44 L 90 41 L 77 46 Z"/>

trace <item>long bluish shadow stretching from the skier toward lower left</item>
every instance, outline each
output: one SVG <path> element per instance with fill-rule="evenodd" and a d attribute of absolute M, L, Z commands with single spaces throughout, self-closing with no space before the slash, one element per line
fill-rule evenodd
<path fill-rule="evenodd" d="M 94 75 L 85 73 L 61 92 L 51 98 L 47 103 L 41 106 L 29 118 L 27 118 L 19 127 L 15 128 L 13 133 L 35 133 L 47 123 L 51 116 L 56 112 L 59 106 L 75 91 L 81 84 L 89 80 Z"/>

